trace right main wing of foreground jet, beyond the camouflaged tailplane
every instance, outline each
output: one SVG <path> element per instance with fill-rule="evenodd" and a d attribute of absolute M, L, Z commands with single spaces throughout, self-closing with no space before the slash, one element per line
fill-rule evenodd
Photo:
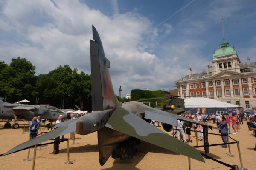
<path fill-rule="evenodd" d="M 212 129 L 212 128 L 218 129 L 217 127 L 212 127 L 212 126 L 208 125 L 207 123 L 198 122 L 198 121 L 188 119 L 183 116 L 175 115 L 175 114 L 168 113 L 168 112 L 161 111 L 161 110 L 157 110 L 157 111 L 146 110 L 145 118 L 151 119 L 151 120 L 156 120 L 158 122 L 167 123 L 170 125 L 175 125 L 175 126 L 177 126 L 177 120 L 183 120 L 185 122 L 192 122 L 192 123 L 197 123 L 199 125 L 206 125 L 206 126 L 209 126 L 210 129 Z"/>

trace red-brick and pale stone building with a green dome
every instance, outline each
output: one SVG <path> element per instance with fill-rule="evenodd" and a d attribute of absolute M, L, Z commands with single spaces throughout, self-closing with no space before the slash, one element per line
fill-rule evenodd
<path fill-rule="evenodd" d="M 189 68 L 188 75 L 175 84 L 180 96 L 207 96 L 256 111 L 256 62 L 247 57 L 247 63 L 242 64 L 228 42 L 214 51 L 206 71 L 192 74 Z"/>

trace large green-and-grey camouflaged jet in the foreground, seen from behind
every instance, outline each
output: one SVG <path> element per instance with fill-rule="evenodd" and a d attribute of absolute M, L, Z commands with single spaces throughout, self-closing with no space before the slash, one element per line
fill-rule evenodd
<path fill-rule="evenodd" d="M 110 62 L 105 57 L 102 42 L 94 26 L 93 40 L 90 40 L 90 57 L 94 112 L 81 118 L 58 123 L 55 125 L 55 130 L 24 142 L 4 155 L 76 130 L 76 133 L 80 135 L 87 135 L 97 131 L 99 163 L 101 165 L 104 165 L 111 155 L 115 159 L 132 158 L 136 151 L 136 143 L 139 143 L 139 140 L 204 162 L 203 157 L 194 147 L 173 138 L 143 120 L 145 118 L 155 119 L 160 117 L 163 122 L 177 125 L 178 119 L 191 121 L 190 119 L 151 108 L 141 102 L 131 101 L 122 104 L 116 99 L 108 72 Z"/>

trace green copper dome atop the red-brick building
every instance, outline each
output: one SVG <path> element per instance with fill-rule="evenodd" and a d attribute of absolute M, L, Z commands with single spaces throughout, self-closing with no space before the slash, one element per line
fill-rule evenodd
<path fill-rule="evenodd" d="M 221 46 L 214 51 L 213 58 L 232 54 L 237 54 L 235 48 L 230 46 L 228 42 L 223 42 L 221 43 Z"/>

